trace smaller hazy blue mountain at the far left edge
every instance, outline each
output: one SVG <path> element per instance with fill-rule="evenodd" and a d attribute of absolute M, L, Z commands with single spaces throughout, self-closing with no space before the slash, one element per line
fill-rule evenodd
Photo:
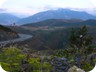
<path fill-rule="evenodd" d="M 0 24 L 13 24 L 18 21 L 20 18 L 8 13 L 0 13 Z"/>

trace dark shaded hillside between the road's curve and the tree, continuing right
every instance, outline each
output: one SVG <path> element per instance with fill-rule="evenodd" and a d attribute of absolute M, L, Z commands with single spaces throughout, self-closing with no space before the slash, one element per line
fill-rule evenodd
<path fill-rule="evenodd" d="M 75 29 L 78 30 L 78 28 Z M 30 35 L 33 35 L 33 38 L 27 40 L 26 42 L 18 43 L 18 46 L 26 46 L 27 44 L 28 48 L 32 50 L 66 48 L 69 41 L 68 38 L 70 30 L 71 28 L 35 31 L 27 30 L 24 31 L 25 34 L 29 32 Z M 93 36 L 93 40 L 96 41 L 96 27 L 89 27 L 88 32 Z"/>

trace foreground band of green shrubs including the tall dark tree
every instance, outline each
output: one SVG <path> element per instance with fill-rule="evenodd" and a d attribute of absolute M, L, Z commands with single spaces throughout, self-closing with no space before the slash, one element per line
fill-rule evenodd
<path fill-rule="evenodd" d="M 91 70 L 96 62 L 96 47 L 87 27 L 72 29 L 69 41 L 67 48 L 54 50 L 49 56 L 41 56 L 39 52 L 33 56 L 16 47 L 5 48 L 0 53 L 0 62 L 9 72 L 66 72 L 74 65 L 86 72 Z"/>

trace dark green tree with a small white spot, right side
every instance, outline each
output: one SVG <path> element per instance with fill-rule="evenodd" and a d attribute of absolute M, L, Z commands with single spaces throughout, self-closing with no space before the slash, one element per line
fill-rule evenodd
<path fill-rule="evenodd" d="M 79 30 L 72 28 L 70 32 L 70 45 L 76 49 L 78 54 L 84 54 L 86 48 L 92 44 L 92 37 L 88 34 L 88 28 L 83 26 Z"/>

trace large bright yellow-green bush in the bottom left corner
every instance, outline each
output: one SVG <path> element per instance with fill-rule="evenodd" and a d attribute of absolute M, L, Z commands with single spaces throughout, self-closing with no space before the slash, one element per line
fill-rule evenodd
<path fill-rule="evenodd" d="M 21 62 L 25 57 L 26 55 L 22 54 L 20 49 L 10 47 L 0 54 L 0 62 L 5 70 L 9 72 L 18 72 L 21 68 Z"/>

